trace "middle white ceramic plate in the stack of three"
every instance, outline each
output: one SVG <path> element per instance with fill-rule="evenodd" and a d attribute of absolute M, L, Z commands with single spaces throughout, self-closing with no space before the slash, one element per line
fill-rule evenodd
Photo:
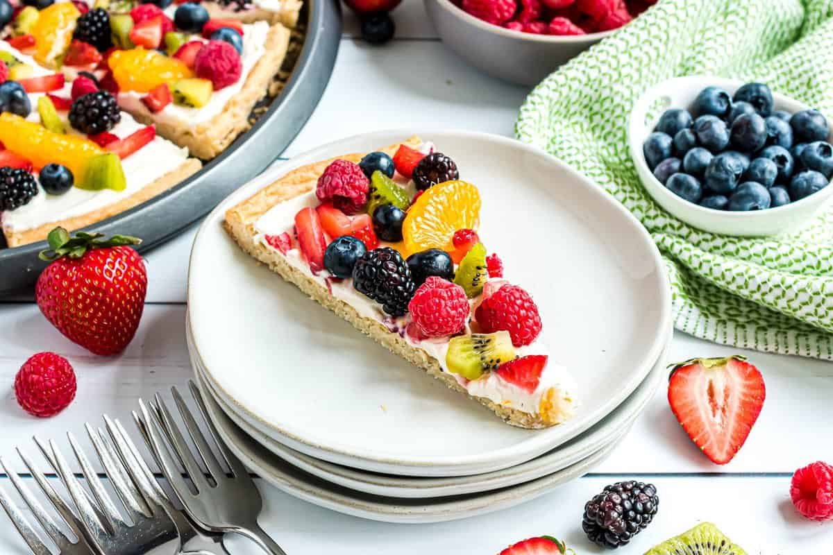
<path fill-rule="evenodd" d="M 190 349 L 192 342 L 190 331 L 187 333 L 187 340 Z M 667 378 L 667 345 L 670 343 L 671 330 L 667 334 L 666 349 L 654 364 L 651 374 L 648 374 L 645 381 L 636 388 L 636 391 L 630 397 L 584 434 L 571 439 L 571 441 L 550 453 L 542 454 L 540 457 L 533 458 L 526 463 L 491 473 L 452 478 L 416 478 L 372 473 L 340 464 L 327 463 L 327 461 L 299 453 L 262 434 L 254 426 L 248 424 L 245 419 L 235 414 L 232 408 L 225 404 L 212 389 L 212 384 L 206 378 L 197 357 L 192 356 L 192 362 L 203 392 L 211 395 L 226 416 L 234 424 L 237 424 L 245 434 L 287 463 L 301 468 L 317 478 L 325 479 L 344 488 L 354 489 L 357 492 L 395 498 L 432 498 L 480 493 L 528 482 L 554 473 L 561 468 L 566 468 L 579 462 L 582 458 L 590 456 L 600 448 L 618 442 L 625 431 L 631 429 L 631 425 L 641 414 L 642 409 L 646 407 L 648 401 L 651 400 L 657 387 Z"/>

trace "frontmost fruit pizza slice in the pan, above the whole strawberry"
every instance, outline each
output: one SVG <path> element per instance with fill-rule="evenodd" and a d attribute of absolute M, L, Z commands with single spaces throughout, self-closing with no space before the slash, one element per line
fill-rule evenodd
<path fill-rule="evenodd" d="M 199 170 L 186 149 L 118 109 L 92 80 L 69 83 L 0 42 L 0 221 L 9 246 L 76 230 L 157 196 Z M 87 88 L 85 88 L 87 87 Z"/>

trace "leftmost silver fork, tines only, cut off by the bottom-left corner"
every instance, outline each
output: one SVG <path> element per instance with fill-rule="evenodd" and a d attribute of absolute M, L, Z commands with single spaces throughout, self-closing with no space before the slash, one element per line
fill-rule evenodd
<path fill-rule="evenodd" d="M 29 473 L 32 474 L 32 478 L 35 479 L 37 485 L 52 503 L 52 507 L 55 508 L 58 515 L 60 515 L 63 522 L 67 524 L 67 527 L 75 536 L 75 538 L 68 537 L 67 534 L 57 526 L 55 521 L 49 516 L 49 513 L 47 513 L 37 498 L 35 498 L 32 495 L 32 492 L 29 491 L 27 485 L 23 483 L 17 473 L 11 471 L 9 466 L 6 464 L 6 460 L 0 457 L 0 466 L 2 466 L 3 472 L 6 473 L 15 489 L 17 489 L 17 493 L 20 493 L 20 497 L 23 499 L 23 502 L 26 503 L 29 510 L 32 511 L 35 519 L 38 523 L 40 523 L 49 539 L 55 543 L 59 555 L 95 555 L 83 539 L 81 532 L 82 523 L 72 513 L 67 504 L 63 502 L 63 499 L 58 497 L 47 478 L 44 477 L 35 465 L 32 464 L 26 454 L 19 448 L 17 449 L 17 454 L 20 455 L 20 458 L 22 458 L 23 463 L 26 464 L 26 468 Z M 14 528 L 17 528 L 17 532 L 20 533 L 23 541 L 27 543 L 29 548 L 32 550 L 32 553 L 35 555 L 52 555 L 49 548 L 47 548 L 41 539 L 38 538 L 37 533 L 34 528 L 32 528 L 32 525 L 27 522 L 26 518 L 23 518 L 20 509 L 12 503 L 12 500 L 2 488 L 0 488 L 0 505 L 2 505 L 2 508 L 5 509 L 8 518 L 11 518 L 12 520 Z"/>

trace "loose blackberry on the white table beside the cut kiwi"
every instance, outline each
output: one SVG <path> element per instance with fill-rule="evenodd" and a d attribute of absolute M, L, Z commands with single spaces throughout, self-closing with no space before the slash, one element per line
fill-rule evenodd
<path fill-rule="evenodd" d="M 651 523 L 659 504 L 654 484 L 617 482 L 586 503 L 581 528 L 591 542 L 616 549 Z"/>

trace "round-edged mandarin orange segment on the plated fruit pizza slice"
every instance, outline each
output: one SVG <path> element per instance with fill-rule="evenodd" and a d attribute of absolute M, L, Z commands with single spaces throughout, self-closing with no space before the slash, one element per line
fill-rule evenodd
<path fill-rule="evenodd" d="M 454 250 L 456 230 L 480 225 L 480 193 L 466 181 L 446 181 L 422 193 L 408 209 L 402 239 L 408 255 L 426 249 Z"/>

